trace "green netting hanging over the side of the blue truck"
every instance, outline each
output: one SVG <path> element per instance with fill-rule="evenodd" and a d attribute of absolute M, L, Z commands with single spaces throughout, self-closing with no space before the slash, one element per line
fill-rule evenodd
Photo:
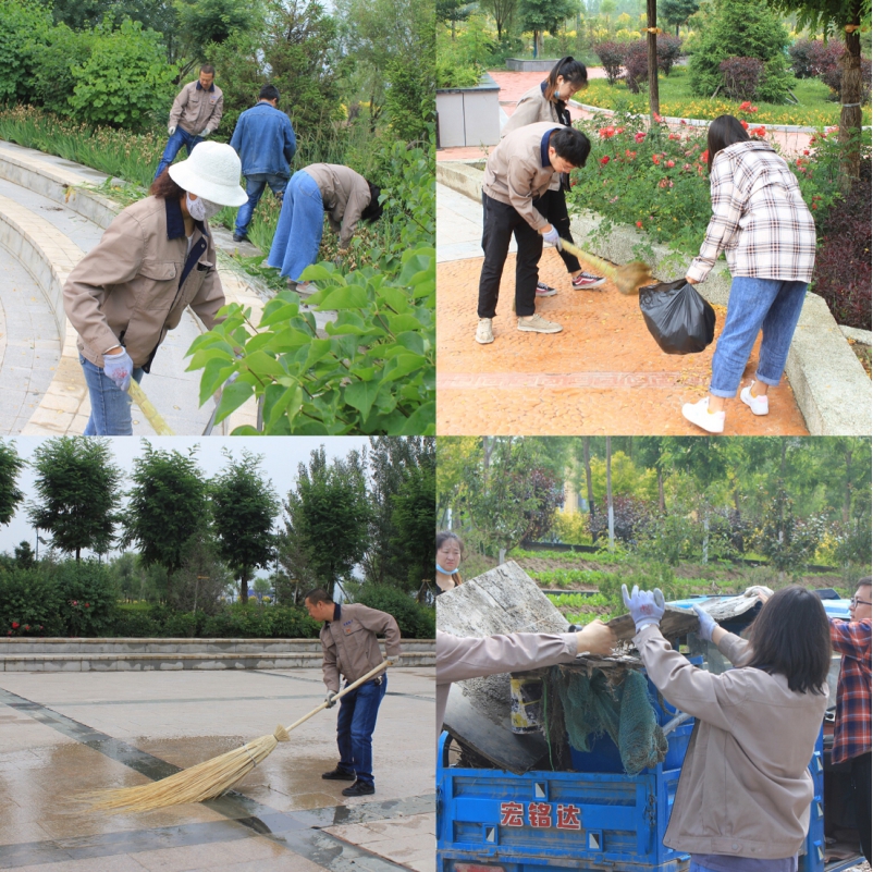
<path fill-rule="evenodd" d="M 611 685 L 600 670 L 589 676 L 553 667 L 550 677 L 561 699 L 570 745 L 578 751 L 590 751 L 591 741 L 605 733 L 618 748 L 628 775 L 664 760 L 667 740 L 641 673 L 627 670 L 618 686 Z"/>

